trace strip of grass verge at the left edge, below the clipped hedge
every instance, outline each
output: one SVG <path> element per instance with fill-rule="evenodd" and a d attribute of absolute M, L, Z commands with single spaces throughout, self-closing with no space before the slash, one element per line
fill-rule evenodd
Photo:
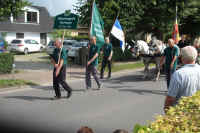
<path fill-rule="evenodd" d="M 20 80 L 20 79 L 1 79 L 0 89 L 7 87 L 23 86 L 23 85 L 37 85 L 36 83 Z"/>

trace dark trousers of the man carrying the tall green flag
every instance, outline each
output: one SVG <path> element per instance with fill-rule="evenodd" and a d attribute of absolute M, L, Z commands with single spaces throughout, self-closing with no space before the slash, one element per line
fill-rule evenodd
<path fill-rule="evenodd" d="M 93 65 L 89 65 L 88 67 L 86 67 L 86 78 L 85 78 L 86 86 L 91 87 L 91 73 L 97 85 L 100 86 L 99 78 L 97 77 L 97 69 Z"/>

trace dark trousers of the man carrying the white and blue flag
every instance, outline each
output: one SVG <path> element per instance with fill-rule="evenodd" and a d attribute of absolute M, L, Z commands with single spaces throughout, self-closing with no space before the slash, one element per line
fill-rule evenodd
<path fill-rule="evenodd" d="M 111 61 L 108 60 L 108 57 L 103 57 L 101 64 L 101 78 L 104 77 L 104 70 L 107 64 L 108 64 L 108 77 L 111 77 Z"/>

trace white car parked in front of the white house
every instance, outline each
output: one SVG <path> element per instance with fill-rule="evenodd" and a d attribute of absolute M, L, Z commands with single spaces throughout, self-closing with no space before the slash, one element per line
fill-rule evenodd
<path fill-rule="evenodd" d="M 8 50 L 28 54 L 30 52 L 42 52 L 45 46 L 32 39 L 14 39 L 8 45 Z"/>

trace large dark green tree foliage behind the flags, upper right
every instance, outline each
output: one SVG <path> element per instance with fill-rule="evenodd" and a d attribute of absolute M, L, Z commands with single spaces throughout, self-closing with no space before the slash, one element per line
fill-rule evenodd
<path fill-rule="evenodd" d="M 93 0 L 78 0 L 75 5 L 80 14 L 80 22 L 90 25 Z M 115 18 L 123 27 L 126 38 L 134 38 L 138 33 L 152 32 L 164 40 L 171 36 L 176 17 L 181 33 L 197 35 L 200 22 L 199 0 L 96 0 L 104 20 L 105 33 L 109 33 Z"/>

